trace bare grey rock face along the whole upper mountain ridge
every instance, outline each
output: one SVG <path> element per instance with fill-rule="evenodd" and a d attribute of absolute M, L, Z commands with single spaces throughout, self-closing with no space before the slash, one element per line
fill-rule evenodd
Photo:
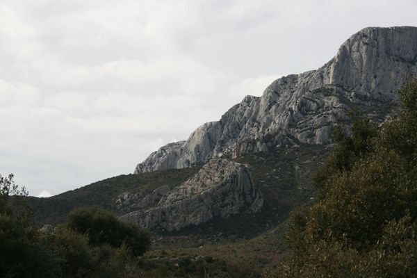
<path fill-rule="evenodd" d="M 267 134 L 327 144 L 334 122 L 345 120 L 352 106 L 384 120 L 411 76 L 417 76 L 417 28 L 364 28 L 320 69 L 277 79 L 262 97 L 247 96 L 220 121 L 199 126 L 188 140 L 161 147 L 135 173 L 189 167 L 236 147 L 261 152 L 265 146 L 256 140 Z M 255 142 L 247 145 L 247 140 Z"/>

